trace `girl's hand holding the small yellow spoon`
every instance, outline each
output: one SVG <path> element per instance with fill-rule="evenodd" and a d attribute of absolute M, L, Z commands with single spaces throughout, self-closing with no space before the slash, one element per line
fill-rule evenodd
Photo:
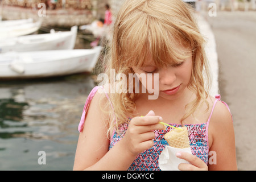
<path fill-rule="evenodd" d="M 131 119 L 125 137 L 122 138 L 124 146 L 131 155 L 137 156 L 153 146 L 155 133 L 152 130 L 163 130 L 165 128 L 164 125 L 159 123 L 160 121 L 162 121 L 162 118 L 155 116 L 154 111 L 149 111 L 144 117 Z"/>

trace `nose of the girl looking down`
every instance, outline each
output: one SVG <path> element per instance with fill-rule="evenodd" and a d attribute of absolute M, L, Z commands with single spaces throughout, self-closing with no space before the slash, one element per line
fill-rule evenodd
<path fill-rule="evenodd" d="M 159 82 L 163 85 L 172 85 L 176 80 L 176 74 L 173 69 L 166 68 L 159 72 Z"/>

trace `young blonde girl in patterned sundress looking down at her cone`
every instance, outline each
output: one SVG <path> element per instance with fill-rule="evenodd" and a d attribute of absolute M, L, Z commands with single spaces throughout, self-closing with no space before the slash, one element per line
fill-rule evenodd
<path fill-rule="evenodd" d="M 160 121 L 188 129 L 192 154 L 177 152 L 190 162 L 179 164 L 180 170 L 237 169 L 232 115 L 219 96 L 205 91 L 204 39 L 191 11 L 180 0 L 123 4 L 105 68 L 109 78 L 113 69 L 127 77 L 126 87 L 121 85 L 126 92 L 110 92 L 109 80 L 89 94 L 73 169 L 160 170 L 159 155 L 168 145 L 163 135 L 172 130 Z M 139 93 L 131 73 L 139 75 Z M 148 88 L 158 90 L 158 97 L 149 99 Z"/>

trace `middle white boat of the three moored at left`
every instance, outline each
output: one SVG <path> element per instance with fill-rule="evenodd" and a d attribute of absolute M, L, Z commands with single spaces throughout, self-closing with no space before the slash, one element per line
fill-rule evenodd
<path fill-rule="evenodd" d="M 77 26 L 71 31 L 55 32 L 50 34 L 36 34 L 15 38 L 0 39 L 0 53 L 15 51 L 44 51 L 57 49 L 73 49 L 76 43 Z"/>

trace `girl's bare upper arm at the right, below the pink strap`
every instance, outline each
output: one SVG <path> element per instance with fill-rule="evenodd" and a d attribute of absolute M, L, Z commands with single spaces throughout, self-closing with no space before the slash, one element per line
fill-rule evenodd
<path fill-rule="evenodd" d="M 208 135 L 212 136 L 212 145 L 209 149 L 211 152 L 208 162 L 209 170 L 237 170 L 232 116 L 222 102 L 217 102 L 213 111 Z"/>

